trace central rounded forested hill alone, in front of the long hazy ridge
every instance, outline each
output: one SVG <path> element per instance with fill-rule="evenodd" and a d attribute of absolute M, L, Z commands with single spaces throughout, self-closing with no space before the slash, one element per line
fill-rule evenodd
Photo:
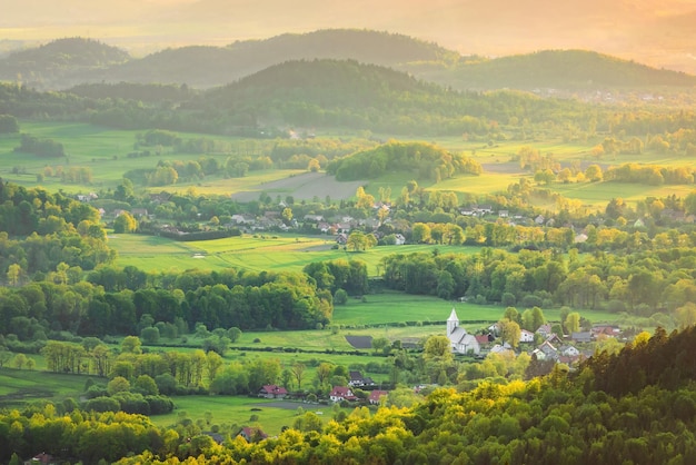
<path fill-rule="evenodd" d="M 289 61 L 208 91 L 190 109 L 228 123 L 346 127 L 386 133 L 488 133 L 491 121 L 555 118 L 580 105 L 521 92 L 454 92 L 352 60 Z M 577 108 L 576 108 L 577 107 Z"/>

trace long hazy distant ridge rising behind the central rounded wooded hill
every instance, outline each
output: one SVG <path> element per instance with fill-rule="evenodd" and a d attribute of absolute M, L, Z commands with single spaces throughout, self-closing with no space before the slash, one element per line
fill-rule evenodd
<path fill-rule="evenodd" d="M 132 60 L 103 72 L 110 82 L 187 83 L 208 88 L 289 60 L 354 59 L 397 66 L 412 62 L 455 63 L 459 55 L 411 37 L 357 29 L 319 30 L 248 40 L 228 47 L 182 47 Z"/>

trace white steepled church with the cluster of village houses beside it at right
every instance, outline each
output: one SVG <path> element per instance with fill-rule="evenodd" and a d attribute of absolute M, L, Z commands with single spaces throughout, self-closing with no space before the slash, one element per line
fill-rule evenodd
<path fill-rule="evenodd" d="M 451 344 L 451 350 L 456 354 L 483 355 L 495 354 L 511 350 L 508 344 L 494 344 L 497 332 L 496 325 L 488 327 L 488 334 L 474 335 L 459 325 L 459 317 L 453 308 L 447 319 L 447 337 Z M 551 332 L 551 325 L 545 324 L 539 326 L 535 333 L 523 329 L 519 336 L 519 343 L 523 345 L 533 345 L 535 335 L 538 334 L 543 343 L 530 350 L 530 355 L 538 360 L 555 360 L 573 365 L 583 358 L 590 356 L 591 350 L 580 350 L 574 344 L 586 344 L 597 340 L 601 337 L 620 337 L 622 332 L 615 325 L 596 325 L 589 332 L 573 333 L 569 340 L 565 340 Z"/>

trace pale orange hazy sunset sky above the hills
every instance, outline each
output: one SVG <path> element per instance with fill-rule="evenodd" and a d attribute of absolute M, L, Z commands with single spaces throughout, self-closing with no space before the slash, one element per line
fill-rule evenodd
<path fill-rule="evenodd" d="M 588 49 L 696 73 L 696 0 L 0 0 L 0 11 L 4 49 L 79 36 L 143 55 L 357 28 L 463 55 Z"/>

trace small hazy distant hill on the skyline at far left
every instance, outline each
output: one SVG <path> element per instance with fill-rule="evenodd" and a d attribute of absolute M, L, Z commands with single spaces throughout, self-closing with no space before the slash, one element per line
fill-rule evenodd
<path fill-rule="evenodd" d="M 95 69 L 128 61 L 128 52 L 97 40 L 58 39 L 14 51 L 0 60 L 0 80 L 20 81 L 38 88 L 59 88 Z"/>

